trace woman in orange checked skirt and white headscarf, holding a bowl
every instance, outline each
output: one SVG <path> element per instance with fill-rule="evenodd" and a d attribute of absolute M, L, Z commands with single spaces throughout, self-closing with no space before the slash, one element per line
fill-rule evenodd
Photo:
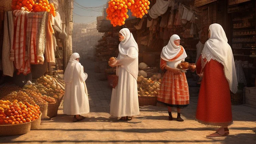
<path fill-rule="evenodd" d="M 161 83 L 157 101 L 168 107 L 169 120 L 172 120 L 172 108 L 177 108 L 177 121 L 184 121 L 180 117 L 181 109 L 189 105 L 189 91 L 186 75 L 177 69 L 179 63 L 185 60 L 187 54 L 180 45 L 180 37 L 172 35 L 169 43 L 161 53 L 160 68 L 166 71 Z"/>

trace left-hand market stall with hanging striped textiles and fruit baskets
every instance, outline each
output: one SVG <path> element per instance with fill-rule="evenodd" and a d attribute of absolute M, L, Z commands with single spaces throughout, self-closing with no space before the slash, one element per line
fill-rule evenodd
<path fill-rule="evenodd" d="M 0 136 L 55 117 L 65 90 L 65 23 L 48 0 L 0 1 Z"/>

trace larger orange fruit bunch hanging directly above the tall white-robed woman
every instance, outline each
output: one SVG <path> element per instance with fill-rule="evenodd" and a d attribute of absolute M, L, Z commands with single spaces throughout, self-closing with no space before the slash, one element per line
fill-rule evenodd
<path fill-rule="evenodd" d="M 127 15 L 128 7 L 127 0 L 110 0 L 108 2 L 107 19 L 110 20 L 110 23 L 116 27 L 117 25 L 124 25 L 124 21 L 129 18 Z"/>

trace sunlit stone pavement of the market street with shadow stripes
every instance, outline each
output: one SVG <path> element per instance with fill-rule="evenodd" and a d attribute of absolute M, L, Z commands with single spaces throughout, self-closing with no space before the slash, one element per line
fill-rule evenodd
<path fill-rule="evenodd" d="M 64 115 L 60 106 L 58 116 L 42 121 L 40 130 L 19 136 L 0 137 L 0 143 L 196 143 L 196 144 L 254 144 L 256 141 L 256 109 L 244 105 L 232 106 L 234 124 L 230 135 L 206 138 L 214 132 L 196 122 L 197 97 L 191 97 L 190 105 L 182 111 L 184 122 L 168 121 L 166 107 L 140 107 L 140 115 L 132 121 L 117 121 L 109 114 L 111 88 L 107 81 L 97 78 L 94 63 L 81 60 L 88 73 L 86 85 L 89 93 L 90 113 L 80 122 L 72 122 L 73 116 Z M 177 116 L 176 110 L 173 117 Z"/>

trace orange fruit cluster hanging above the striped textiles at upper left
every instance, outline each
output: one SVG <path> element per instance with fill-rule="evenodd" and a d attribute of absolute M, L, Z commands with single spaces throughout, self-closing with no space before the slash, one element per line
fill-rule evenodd
<path fill-rule="evenodd" d="M 53 3 L 49 3 L 48 0 L 40 0 L 38 3 L 36 0 L 12 0 L 12 10 L 20 10 L 22 7 L 26 11 L 32 12 L 50 12 L 54 17 L 56 16 L 56 9 Z"/>

